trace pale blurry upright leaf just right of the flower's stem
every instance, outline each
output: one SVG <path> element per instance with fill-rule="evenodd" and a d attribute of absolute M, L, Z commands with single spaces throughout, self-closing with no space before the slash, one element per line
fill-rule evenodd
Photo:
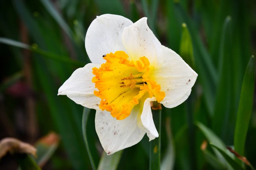
<path fill-rule="evenodd" d="M 166 135 L 167 135 L 167 150 L 166 153 L 162 159 L 161 163 L 161 170 L 170 170 L 174 168 L 175 164 L 175 150 L 174 150 L 174 141 L 172 137 L 172 132 L 171 132 L 171 120 L 170 117 L 166 117 L 166 122 L 165 122 L 165 130 L 166 130 Z"/>

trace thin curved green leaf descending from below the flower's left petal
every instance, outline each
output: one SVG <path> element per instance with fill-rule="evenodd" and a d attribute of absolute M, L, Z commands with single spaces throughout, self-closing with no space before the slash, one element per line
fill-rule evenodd
<path fill-rule="evenodd" d="M 93 170 L 96 170 L 96 166 L 95 166 L 95 163 L 94 163 L 91 151 L 90 151 L 90 147 L 88 145 L 88 140 L 87 140 L 87 135 L 86 135 L 86 126 L 87 126 L 87 120 L 89 118 L 90 110 L 91 109 L 89 109 L 87 107 L 84 107 L 83 118 L 82 118 L 82 131 L 83 131 L 84 143 L 85 143 L 85 146 L 86 146 L 86 150 L 87 150 L 87 153 L 88 153 L 88 156 L 89 156 L 92 168 L 93 168 Z"/>

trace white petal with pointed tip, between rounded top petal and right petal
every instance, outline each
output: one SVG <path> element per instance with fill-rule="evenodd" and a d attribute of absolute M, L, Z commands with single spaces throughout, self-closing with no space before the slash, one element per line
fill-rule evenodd
<path fill-rule="evenodd" d="M 132 60 L 147 57 L 150 64 L 157 66 L 161 59 L 161 43 L 147 25 L 147 18 L 142 18 L 126 27 L 122 34 L 123 44 Z"/>

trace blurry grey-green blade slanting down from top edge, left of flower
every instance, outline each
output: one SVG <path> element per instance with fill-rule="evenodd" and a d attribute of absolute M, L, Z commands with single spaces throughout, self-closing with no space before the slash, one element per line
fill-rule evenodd
<path fill-rule="evenodd" d="M 56 20 L 56 22 L 60 25 L 60 27 L 66 32 L 66 34 L 72 39 L 74 33 L 69 28 L 68 24 L 63 20 L 60 16 L 59 12 L 53 7 L 49 0 L 40 0 L 44 5 L 46 10 L 51 14 L 51 16 Z"/>

